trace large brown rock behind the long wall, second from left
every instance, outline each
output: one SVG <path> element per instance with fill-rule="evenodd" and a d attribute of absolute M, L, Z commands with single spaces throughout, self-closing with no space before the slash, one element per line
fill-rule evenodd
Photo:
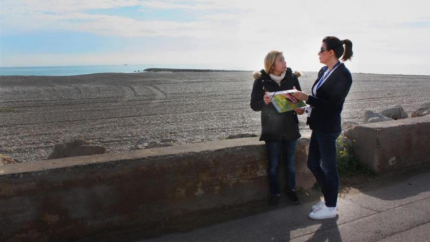
<path fill-rule="evenodd" d="M 48 156 L 48 159 L 104 153 L 106 153 L 105 147 L 91 145 L 84 140 L 77 139 L 67 143 L 56 144 L 54 146 L 54 151 Z"/>

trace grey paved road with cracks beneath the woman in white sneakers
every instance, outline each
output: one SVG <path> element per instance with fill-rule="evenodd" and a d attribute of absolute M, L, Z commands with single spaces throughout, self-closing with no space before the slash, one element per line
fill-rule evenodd
<path fill-rule="evenodd" d="M 430 241 L 429 177 L 427 169 L 352 189 L 340 198 L 334 219 L 308 219 L 313 201 L 139 242 Z"/>

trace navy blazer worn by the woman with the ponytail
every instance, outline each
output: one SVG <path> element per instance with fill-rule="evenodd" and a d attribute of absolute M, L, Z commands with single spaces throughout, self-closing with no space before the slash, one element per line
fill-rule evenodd
<path fill-rule="evenodd" d="M 324 73 L 325 66 L 318 72 L 318 83 Z M 307 123 L 309 128 L 316 132 L 336 133 L 341 132 L 341 112 L 344 107 L 346 95 L 352 84 L 352 75 L 342 63 L 325 82 L 317 89 L 316 96 L 309 96 L 306 101 L 312 106 L 311 116 Z"/>

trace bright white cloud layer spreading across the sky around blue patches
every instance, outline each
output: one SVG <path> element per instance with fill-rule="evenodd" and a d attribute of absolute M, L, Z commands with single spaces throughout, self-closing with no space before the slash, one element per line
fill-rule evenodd
<path fill-rule="evenodd" d="M 138 11 L 185 11 L 192 21 L 135 20 L 128 16 L 88 14 L 87 10 L 136 6 Z M 355 71 L 361 66 L 430 63 L 428 13 L 430 3 L 409 0 L 396 4 L 388 0 L 27 0 L 1 2 L 1 32 L 45 30 L 84 31 L 96 35 L 125 38 L 189 38 L 194 48 L 183 51 L 163 46 L 146 49 L 131 46 L 131 51 L 112 50 L 108 56 L 123 56 L 132 63 L 155 63 L 159 56 L 173 57 L 183 63 L 229 63 L 242 69 L 257 69 L 270 49 L 283 50 L 287 61 L 302 70 L 316 70 L 317 50 L 326 35 L 348 38 L 354 44 L 355 56 L 348 64 Z M 144 56 L 144 57 L 142 57 Z M 209 58 L 208 58 L 209 57 Z M 88 56 L 73 56 L 85 60 Z M 113 57 L 112 57 L 113 58 Z M 151 59 L 152 58 L 152 59 Z M 2 57 L 5 60 L 4 57 Z M 71 60 L 70 59 L 70 60 Z M 131 61 L 132 60 L 132 61 Z M 152 61 L 151 61 L 152 60 Z M 160 61 L 162 61 L 160 59 Z M 384 67 L 386 68 L 386 67 Z M 393 68 L 391 71 L 400 71 Z M 429 68 L 430 69 L 430 68 Z"/>

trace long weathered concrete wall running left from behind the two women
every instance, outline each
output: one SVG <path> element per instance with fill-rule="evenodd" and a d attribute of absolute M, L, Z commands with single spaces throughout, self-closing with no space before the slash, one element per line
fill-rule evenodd
<path fill-rule="evenodd" d="M 315 182 L 308 138 L 296 155 L 303 188 Z M 266 167 L 258 138 L 4 165 L 0 241 L 62 241 L 262 199 Z"/>

